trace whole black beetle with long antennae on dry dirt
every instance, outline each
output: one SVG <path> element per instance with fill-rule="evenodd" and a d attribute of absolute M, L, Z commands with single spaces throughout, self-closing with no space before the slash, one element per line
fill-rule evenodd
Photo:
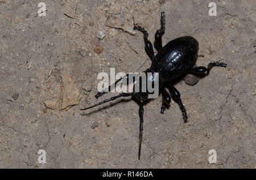
<path fill-rule="evenodd" d="M 135 30 L 141 31 L 144 34 L 144 43 L 145 43 L 145 50 L 148 56 L 150 57 L 152 61 L 152 65 L 150 68 L 148 68 L 146 71 L 151 72 L 151 76 L 147 78 L 150 78 L 152 83 L 154 84 L 154 75 L 156 75 L 156 72 L 158 72 L 159 75 L 159 91 L 162 93 L 162 101 L 163 104 L 161 106 L 160 113 L 164 113 L 164 110 L 167 106 L 170 105 L 171 102 L 171 96 L 166 91 L 164 87 L 168 87 L 170 90 L 171 95 L 175 98 L 175 100 L 179 103 L 180 110 L 183 115 L 184 123 L 187 122 L 187 113 L 185 110 L 184 105 L 182 104 L 180 93 L 177 91 L 177 89 L 171 84 L 171 80 L 174 80 L 181 76 L 184 73 L 192 73 L 192 74 L 204 74 L 208 75 L 210 69 L 213 66 L 219 66 L 219 67 L 226 67 L 225 63 L 218 63 L 213 62 L 209 63 L 208 67 L 192 67 L 197 59 L 197 53 L 199 50 L 199 43 L 197 40 L 191 36 L 183 36 L 176 38 L 175 40 L 172 40 L 168 42 L 165 46 L 162 46 L 162 35 L 164 34 L 165 30 L 165 16 L 164 12 L 161 13 L 161 28 L 158 29 L 155 33 L 155 49 L 158 51 L 158 54 L 154 55 L 154 50 L 151 42 L 147 39 L 148 33 L 147 31 L 142 28 L 139 25 L 136 25 L 134 27 Z M 129 75 L 123 76 L 123 78 L 129 79 Z M 122 80 L 123 78 L 117 80 L 112 85 L 117 85 L 117 83 Z M 109 86 L 109 91 L 110 87 Z M 107 91 L 98 92 L 95 96 L 96 98 L 104 95 Z M 90 106 L 89 108 L 81 109 L 86 110 L 90 108 L 94 108 L 95 106 L 104 104 L 105 102 L 109 102 L 112 100 L 115 100 L 119 97 L 125 97 L 125 96 L 133 96 L 139 101 L 139 117 L 141 119 L 140 123 L 140 131 L 139 131 L 139 153 L 138 158 L 141 156 L 141 143 L 142 143 L 142 131 L 143 131 L 143 105 L 148 101 L 148 91 L 147 92 L 131 92 L 131 93 L 120 93 L 118 96 L 111 97 L 108 100 L 102 101 L 96 105 Z"/>

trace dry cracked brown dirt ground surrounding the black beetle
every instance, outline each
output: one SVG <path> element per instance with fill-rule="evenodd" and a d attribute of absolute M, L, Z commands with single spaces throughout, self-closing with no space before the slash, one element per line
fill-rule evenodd
<path fill-rule="evenodd" d="M 217 16 L 209 16 L 210 2 L 216 2 Z M 38 3 L 0 1 L 0 168 L 256 167 L 255 0 L 45 0 L 46 16 L 37 15 Z M 194 86 L 177 81 L 188 123 L 176 102 L 160 114 L 162 96 L 144 106 L 138 160 L 136 102 L 126 97 L 80 109 L 117 95 L 94 98 L 99 72 L 141 72 L 151 64 L 142 33 L 107 25 L 134 32 L 133 23 L 139 23 L 153 42 L 162 11 L 163 44 L 193 36 L 204 55 L 197 66 L 211 59 L 228 66 L 213 67 Z M 99 54 L 93 41 L 98 31 L 105 34 Z M 82 93 L 79 105 L 64 112 L 47 109 L 43 101 L 59 99 L 66 73 Z M 46 164 L 38 162 L 40 149 Z M 217 153 L 213 164 L 210 149 Z"/>

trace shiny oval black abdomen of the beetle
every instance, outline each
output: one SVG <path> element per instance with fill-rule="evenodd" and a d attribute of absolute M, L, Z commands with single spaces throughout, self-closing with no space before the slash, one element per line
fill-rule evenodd
<path fill-rule="evenodd" d="M 150 69 L 159 72 L 159 78 L 167 82 L 180 76 L 195 63 L 199 44 L 191 36 L 183 36 L 168 42 L 156 54 Z"/>

